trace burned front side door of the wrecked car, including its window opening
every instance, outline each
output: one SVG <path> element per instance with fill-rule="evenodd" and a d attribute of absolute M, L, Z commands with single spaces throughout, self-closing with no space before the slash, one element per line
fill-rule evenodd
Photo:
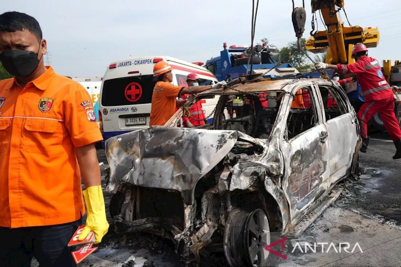
<path fill-rule="evenodd" d="M 291 223 L 295 225 L 328 192 L 323 184 L 329 175 L 329 152 L 328 132 L 313 84 L 304 83 L 292 93 L 295 97 L 287 103 L 280 150 L 284 156 L 282 188 L 290 205 Z M 294 102 L 300 94 L 302 103 Z"/>

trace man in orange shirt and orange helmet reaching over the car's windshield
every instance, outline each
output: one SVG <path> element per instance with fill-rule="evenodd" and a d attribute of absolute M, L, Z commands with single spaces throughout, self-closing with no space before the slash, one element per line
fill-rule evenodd
<path fill-rule="evenodd" d="M 164 125 L 174 115 L 176 98 L 180 95 L 201 93 L 227 84 L 225 81 L 221 81 L 205 86 L 174 86 L 172 85 L 173 75 L 171 71 L 172 68 L 166 61 L 160 61 L 153 67 L 153 76 L 158 77 L 158 82 L 153 89 L 149 126 Z"/>

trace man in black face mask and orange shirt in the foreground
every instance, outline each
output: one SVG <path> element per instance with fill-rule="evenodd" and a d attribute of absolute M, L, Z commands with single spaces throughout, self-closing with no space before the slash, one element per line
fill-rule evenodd
<path fill-rule="evenodd" d="M 15 76 L 0 81 L 2 267 L 30 267 L 32 257 L 41 267 L 76 266 L 67 243 L 81 225 L 84 199 L 87 220 L 79 239 L 94 231 L 99 243 L 109 227 L 91 97 L 45 67 L 46 52 L 36 19 L 0 15 L 0 61 Z"/>

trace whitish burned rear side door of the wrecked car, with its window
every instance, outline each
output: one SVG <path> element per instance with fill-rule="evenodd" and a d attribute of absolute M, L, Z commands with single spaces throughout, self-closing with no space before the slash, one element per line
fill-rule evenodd
<path fill-rule="evenodd" d="M 341 87 L 315 83 L 323 105 L 323 120 L 328 132 L 330 181 L 335 183 L 350 171 L 359 139 L 356 114 Z"/>

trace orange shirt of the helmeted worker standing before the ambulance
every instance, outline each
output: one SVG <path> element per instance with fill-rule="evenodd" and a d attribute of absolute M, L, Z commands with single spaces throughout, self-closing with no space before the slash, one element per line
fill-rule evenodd
<path fill-rule="evenodd" d="M 169 82 L 158 81 L 153 89 L 150 108 L 149 126 L 164 125 L 176 108 L 176 97 L 180 96 L 184 87 L 174 86 Z"/>

